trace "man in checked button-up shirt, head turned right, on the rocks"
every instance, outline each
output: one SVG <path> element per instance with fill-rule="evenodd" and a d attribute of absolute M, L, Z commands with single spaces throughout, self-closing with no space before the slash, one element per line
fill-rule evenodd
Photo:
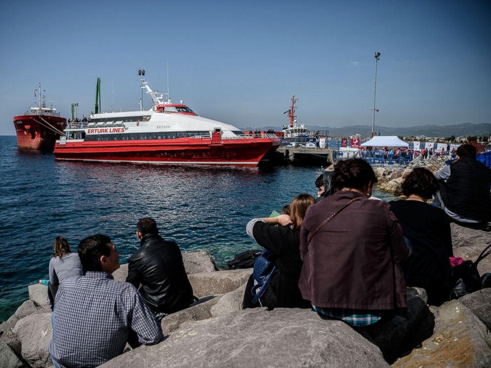
<path fill-rule="evenodd" d="M 49 344 L 55 367 L 97 367 L 122 354 L 127 342 L 161 341 L 162 328 L 137 289 L 111 276 L 119 268 L 111 239 L 89 236 L 78 254 L 85 276 L 67 278 L 56 293 Z"/>

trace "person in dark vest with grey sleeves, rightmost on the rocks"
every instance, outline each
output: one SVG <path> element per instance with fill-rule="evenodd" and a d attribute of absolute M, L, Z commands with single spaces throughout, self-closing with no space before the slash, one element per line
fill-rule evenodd
<path fill-rule="evenodd" d="M 435 176 L 440 180 L 438 199 L 448 217 L 458 223 L 491 221 L 491 170 L 477 161 L 476 147 L 462 144 L 457 159 Z"/>

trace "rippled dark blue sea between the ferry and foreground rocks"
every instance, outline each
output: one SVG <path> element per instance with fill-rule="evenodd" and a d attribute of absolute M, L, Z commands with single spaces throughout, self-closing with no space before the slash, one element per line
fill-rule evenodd
<path fill-rule="evenodd" d="M 219 267 L 257 247 L 245 233 L 254 217 L 281 210 L 300 192 L 315 196 L 321 167 L 220 168 L 55 161 L 0 137 L 0 321 L 48 278 L 53 238 L 72 250 L 105 233 L 120 261 L 139 246 L 136 223 L 149 216 L 184 252 L 207 250 Z M 387 199 L 387 195 L 375 192 Z"/>

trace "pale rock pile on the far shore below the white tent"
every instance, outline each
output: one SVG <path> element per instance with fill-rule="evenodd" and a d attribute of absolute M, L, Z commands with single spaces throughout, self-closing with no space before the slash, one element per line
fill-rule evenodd
<path fill-rule="evenodd" d="M 433 174 L 442 169 L 446 165 L 447 157 L 432 157 L 429 160 L 421 161 L 420 157 L 412 160 L 408 165 L 398 167 L 377 167 L 374 168 L 375 176 L 378 179 L 378 185 L 381 190 L 402 195 L 402 182 L 406 176 L 417 167 L 424 167 L 430 170 Z"/>

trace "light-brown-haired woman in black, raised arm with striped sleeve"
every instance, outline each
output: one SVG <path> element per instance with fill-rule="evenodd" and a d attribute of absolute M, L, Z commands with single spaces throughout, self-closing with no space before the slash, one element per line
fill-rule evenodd
<path fill-rule="evenodd" d="M 310 308 L 298 288 L 298 279 L 302 269 L 300 259 L 300 226 L 308 206 L 315 203 L 310 194 L 297 195 L 290 204 L 290 215 L 252 219 L 247 224 L 247 235 L 260 246 L 272 252 L 276 257 L 276 271 L 269 286 L 259 300 L 252 303 L 252 276 L 245 288 L 244 308 L 267 307 Z"/>

